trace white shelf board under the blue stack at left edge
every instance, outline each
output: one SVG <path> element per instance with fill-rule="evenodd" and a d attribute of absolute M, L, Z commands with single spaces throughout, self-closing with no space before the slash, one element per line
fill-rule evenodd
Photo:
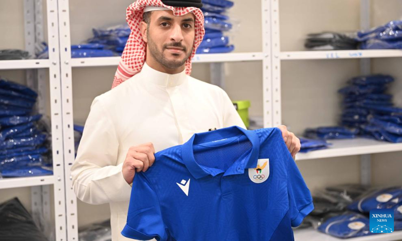
<path fill-rule="evenodd" d="M 55 176 L 15 177 L 0 179 L 0 189 L 49 185 L 55 182 Z"/>

